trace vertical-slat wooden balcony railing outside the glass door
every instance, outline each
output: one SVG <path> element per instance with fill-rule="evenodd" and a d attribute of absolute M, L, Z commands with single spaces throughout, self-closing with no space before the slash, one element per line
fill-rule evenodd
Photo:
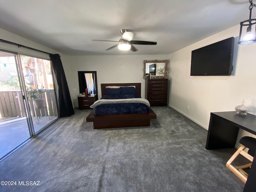
<path fill-rule="evenodd" d="M 54 90 L 49 89 L 43 96 L 45 108 L 36 109 L 33 100 L 29 100 L 32 117 L 35 116 L 57 116 L 57 105 Z M 23 96 L 21 91 L 0 91 L 0 117 L 25 117 Z"/>

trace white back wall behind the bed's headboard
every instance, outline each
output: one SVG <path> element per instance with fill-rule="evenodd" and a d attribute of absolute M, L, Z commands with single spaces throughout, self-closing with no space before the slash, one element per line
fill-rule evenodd
<path fill-rule="evenodd" d="M 78 71 L 96 71 L 98 96 L 101 97 L 102 83 L 141 83 L 142 98 L 145 97 L 144 60 L 166 60 L 169 55 L 133 55 L 133 56 L 69 56 L 63 62 L 70 95 L 74 106 L 78 107 L 79 94 Z"/>

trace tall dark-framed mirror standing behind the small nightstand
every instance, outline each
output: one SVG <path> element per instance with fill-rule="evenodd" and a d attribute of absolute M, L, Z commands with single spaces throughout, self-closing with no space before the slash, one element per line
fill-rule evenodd
<path fill-rule="evenodd" d="M 79 93 L 83 94 L 85 89 L 98 100 L 97 73 L 96 71 L 78 71 Z"/>

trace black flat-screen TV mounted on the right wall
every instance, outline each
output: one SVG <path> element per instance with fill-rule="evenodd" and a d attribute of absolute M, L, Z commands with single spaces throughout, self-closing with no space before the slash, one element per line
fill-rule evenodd
<path fill-rule="evenodd" d="M 229 76 L 233 69 L 234 37 L 192 51 L 190 76 Z"/>

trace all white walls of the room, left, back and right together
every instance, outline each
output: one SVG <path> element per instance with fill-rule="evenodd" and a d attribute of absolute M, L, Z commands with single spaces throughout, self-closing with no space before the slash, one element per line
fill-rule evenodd
<path fill-rule="evenodd" d="M 237 41 L 238 32 L 239 25 L 170 55 L 138 56 L 68 56 L 3 29 L 0 29 L 0 38 L 52 54 L 60 54 L 70 96 L 75 107 L 78 106 L 77 95 L 79 93 L 77 71 L 97 71 L 99 97 L 101 96 L 101 83 L 116 82 L 142 83 L 143 97 L 145 88 L 145 81 L 142 78 L 143 60 L 170 59 L 169 78 L 171 88 L 169 105 L 208 129 L 210 112 L 232 111 L 235 106 L 241 104 L 243 99 L 246 106 L 249 106 L 250 112 L 256 114 L 256 63 L 254 62 L 256 44 L 238 45 L 235 43 L 232 76 L 190 76 L 192 50 L 231 36 L 234 36 Z M 49 58 L 47 54 L 1 42 L 0 49 Z M 189 109 L 187 109 L 187 106 L 189 106 Z"/>

